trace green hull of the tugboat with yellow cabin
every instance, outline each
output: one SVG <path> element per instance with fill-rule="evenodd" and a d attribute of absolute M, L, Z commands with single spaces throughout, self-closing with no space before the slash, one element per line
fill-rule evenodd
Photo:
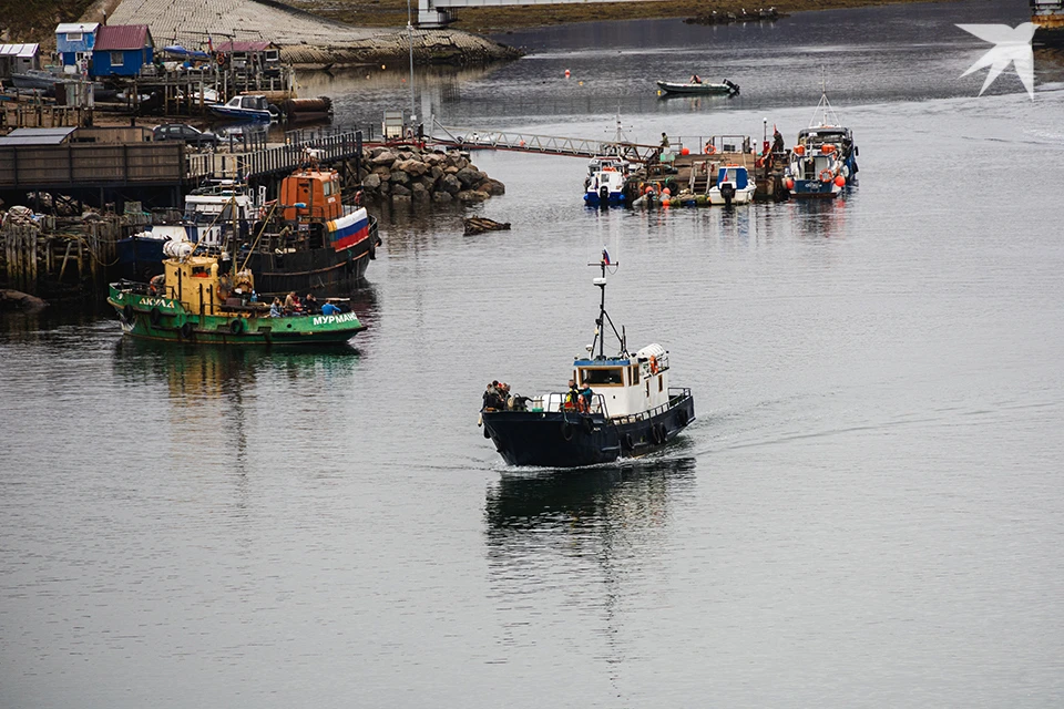
<path fill-rule="evenodd" d="M 121 284 L 112 284 L 108 302 L 117 312 L 122 331 L 143 340 L 241 347 L 338 345 L 366 329 L 354 312 L 270 318 L 247 309 L 201 316 L 173 298 L 133 292 Z"/>

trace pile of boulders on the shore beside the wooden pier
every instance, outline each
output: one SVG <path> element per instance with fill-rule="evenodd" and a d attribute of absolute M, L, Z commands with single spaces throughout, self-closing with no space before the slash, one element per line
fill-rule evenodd
<path fill-rule="evenodd" d="M 438 204 L 475 204 L 505 194 L 498 179 L 477 169 L 459 151 L 376 147 L 362 156 L 359 174 L 364 195 L 371 199 Z"/>

